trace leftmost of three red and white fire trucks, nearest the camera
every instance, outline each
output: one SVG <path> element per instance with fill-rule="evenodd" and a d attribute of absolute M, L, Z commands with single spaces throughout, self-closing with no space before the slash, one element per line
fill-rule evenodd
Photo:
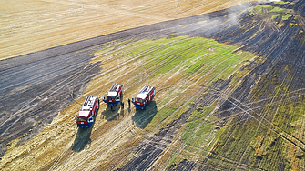
<path fill-rule="evenodd" d="M 86 96 L 86 100 L 76 116 L 77 127 L 90 127 L 94 123 L 93 117 L 97 115 L 98 107 L 97 96 Z"/>

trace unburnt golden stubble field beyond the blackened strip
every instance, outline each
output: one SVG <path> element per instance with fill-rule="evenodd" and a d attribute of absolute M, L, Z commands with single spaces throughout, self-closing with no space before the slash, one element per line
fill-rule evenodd
<path fill-rule="evenodd" d="M 0 60 L 233 5 L 239 1 L 4 0 Z"/>

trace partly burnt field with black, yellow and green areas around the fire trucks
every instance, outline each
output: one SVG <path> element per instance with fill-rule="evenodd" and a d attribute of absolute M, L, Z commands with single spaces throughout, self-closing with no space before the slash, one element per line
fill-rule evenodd
<path fill-rule="evenodd" d="M 304 3 L 245 3 L 0 61 L 0 166 L 304 170 Z M 77 129 L 78 103 L 113 83 L 125 102 L 143 85 L 156 98 L 144 111 L 101 103 Z"/>

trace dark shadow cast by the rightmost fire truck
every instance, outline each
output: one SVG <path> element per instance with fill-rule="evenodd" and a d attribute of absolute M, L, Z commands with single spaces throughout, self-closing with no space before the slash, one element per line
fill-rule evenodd
<path fill-rule="evenodd" d="M 144 129 L 151 122 L 154 116 L 156 116 L 157 112 L 158 108 L 156 106 L 156 101 L 152 101 L 147 106 L 146 110 L 136 109 L 135 115 L 131 118 L 137 127 Z"/>

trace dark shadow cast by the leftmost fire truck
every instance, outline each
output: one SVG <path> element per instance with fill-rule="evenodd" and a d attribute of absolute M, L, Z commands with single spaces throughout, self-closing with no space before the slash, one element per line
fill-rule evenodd
<path fill-rule="evenodd" d="M 96 121 L 96 117 L 94 116 L 94 120 Z M 85 149 L 86 145 L 91 144 L 91 132 L 92 128 L 95 125 L 95 122 L 90 127 L 78 127 L 77 133 L 76 133 L 76 139 L 73 142 L 72 150 L 75 152 L 80 152 Z"/>

